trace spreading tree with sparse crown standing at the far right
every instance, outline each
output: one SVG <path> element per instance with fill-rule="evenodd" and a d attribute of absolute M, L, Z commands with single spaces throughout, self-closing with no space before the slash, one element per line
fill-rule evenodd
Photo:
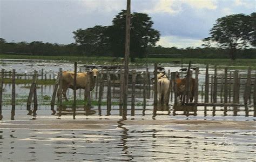
<path fill-rule="evenodd" d="M 253 15 L 253 14 L 252 14 Z M 254 19 L 255 20 L 255 19 Z M 217 46 L 230 50 L 231 59 L 236 58 L 237 49 L 247 48 L 253 43 L 251 17 L 244 14 L 234 14 L 218 18 L 210 30 L 210 37 L 204 42 L 217 42 Z"/>

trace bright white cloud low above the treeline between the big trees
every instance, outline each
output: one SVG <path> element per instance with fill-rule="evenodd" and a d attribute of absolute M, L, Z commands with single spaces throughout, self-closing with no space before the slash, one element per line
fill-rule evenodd
<path fill-rule="evenodd" d="M 193 46 L 194 48 L 201 46 L 203 41 L 200 39 L 182 38 L 179 36 L 162 36 L 157 42 L 157 45 L 161 45 L 166 48 L 175 46 L 177 48 L 187 48 Z"/>

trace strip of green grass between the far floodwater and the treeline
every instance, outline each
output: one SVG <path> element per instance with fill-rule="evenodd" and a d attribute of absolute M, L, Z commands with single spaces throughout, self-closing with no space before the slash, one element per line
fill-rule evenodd
<path fill-rule="evenodd" d="M 115 59 L 114 57 L 103 57 L 103 56 L 21 56 L 21 55 L 0 55 L 0 59 L 44 59 L 44 60 L 60 60 L 60 62 L 75 62 L 81 64 L 123 64 L 122 60 Z M 219 66 L 231 66 L 245 68 L 248 66 L 256 67 L 256 59 L 225 59 L 225 58 L 136 58 L 135 62 L 132 65 L 143 65 L 144 63 L 152 64 L 154 62 L 158 63 L 172 63 L 173 61 L 182 61 L 183 64 L 188 64 L 189 61 L 192 61 L 192 64 L 210 64 L 210 65 L 219 65 Z M 179 65 L 179 64 L 178 64 Z"/>

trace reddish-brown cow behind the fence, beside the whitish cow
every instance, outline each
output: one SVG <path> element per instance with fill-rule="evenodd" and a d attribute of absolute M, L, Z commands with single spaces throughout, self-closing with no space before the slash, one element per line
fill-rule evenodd
<path fill-rule="evenodd" d="M 180 101 L 182 100 L 183 94 L 186 91 L 186 78 L 179 78 L 179 74 L 177 75 L 176 79 L 176 84 L 177 84 L 177 96 L 180 96 Z M 193 102 L 194 99 L 194 85 L 195 85 L 195 80 L 194 78 L 191 78 L 190 82 L 190 102 Z"/>

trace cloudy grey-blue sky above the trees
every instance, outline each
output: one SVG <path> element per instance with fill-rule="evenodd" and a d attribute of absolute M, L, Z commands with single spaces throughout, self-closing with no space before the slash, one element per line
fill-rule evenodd
<path fill-rule="evenodd" d="M 0 0 L 0 37 L 7 42 L 69 44 L 73 31 L 111 25 L 126 0 Z M 131 12 L 148 14 L 160 31 L 157 45 L 201 46 L 217 18 L 251 14 L 256 0 L 131 0 Z"/>

